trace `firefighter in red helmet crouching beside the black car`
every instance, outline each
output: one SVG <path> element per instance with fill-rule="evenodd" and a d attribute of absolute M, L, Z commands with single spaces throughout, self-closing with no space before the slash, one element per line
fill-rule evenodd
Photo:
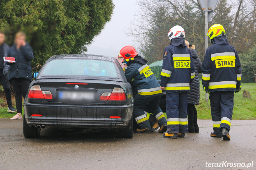
<path fill-rule="evenodd" d="M 133 116 L 139 126 L 136 133 L 151 132 L 150 122 L 144 113 L 144 108 L 152 113 L 158 120 L 159 132 L 166 132 L 167 121 L 159 107 L 162 90 L 153 72 L 147 65 L 147 60 L 143 59 L 136 52 L 133 46 L 125 46 L 120 50 L 119 57 L 123 57 L 127 62 L 125 76 L 131 83 L 133 89 L 137 89 L 134 95 Z"/>

